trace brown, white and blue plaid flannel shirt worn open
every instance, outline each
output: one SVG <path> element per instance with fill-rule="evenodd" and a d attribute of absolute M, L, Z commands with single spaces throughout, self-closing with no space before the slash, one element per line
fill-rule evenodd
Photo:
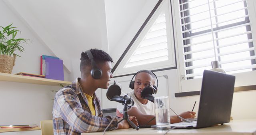
<path fill-rule="evenodd" d="M 52 111 L 54 135 L 80 135 L 80 133 L 104 131 L 112 119 L 110 127 L 118 122 L 117 117 L 103 117 L 100 100 L 95 93 L 92 101 L 96 116 L 92 115 L 79 80 L 80 78 L 77 78 L 55 95 Z M 117 126 L 108 130 L 116 128 Z"/>

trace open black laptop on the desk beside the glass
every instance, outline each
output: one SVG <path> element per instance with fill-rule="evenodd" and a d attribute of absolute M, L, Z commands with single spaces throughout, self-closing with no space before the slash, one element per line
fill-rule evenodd
<path fill-rule="evenodd" d="M 235 76 L 204 70 L 196 122 L 171 124 L 177 128 L 201 128 L 230 122 Z"/>

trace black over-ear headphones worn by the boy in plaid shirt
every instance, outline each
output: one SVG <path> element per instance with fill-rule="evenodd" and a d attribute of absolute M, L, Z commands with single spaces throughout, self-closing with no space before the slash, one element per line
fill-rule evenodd
<path fill-rule="evenodd" d="M 100 77 L 102 76 L 102 71 L 101 71 L 100 68 L 97 67 L 96 62 L 93 59 L 92 52 L 90 50 L 87 50 L 86 54 L 87 54 L 88 58 L 91 61 L 91 65 L 92 65 L 91 75 L 92 75 L 92 77 L 94 79 L 100 79 Z"/>

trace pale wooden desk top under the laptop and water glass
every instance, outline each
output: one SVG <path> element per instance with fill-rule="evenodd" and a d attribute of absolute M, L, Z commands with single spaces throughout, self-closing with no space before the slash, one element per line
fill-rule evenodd
<path fill-rule="evenodd" d="M 156 129 L 117 129 L 106 131 L 105 135 L 164 135 L 165 132 Z M 256 119 L 233 120 L 224 125 L 205 127 L 200 129 L 173 129 L 166 135 L 173 134 L 193 134 L 193 135 L 256 135 Z M 82 133 L 81 135 L 102 135 L 103 132 Z"/>

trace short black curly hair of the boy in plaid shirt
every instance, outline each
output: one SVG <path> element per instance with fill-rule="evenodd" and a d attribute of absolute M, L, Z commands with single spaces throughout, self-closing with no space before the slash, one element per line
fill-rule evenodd
<path fill-rule="evenodd" d="M 106 52 L 103 50 L 98 50 L 98 49 L 90 49 L 93 59 L 96 62 L 96 64 L 103 63 L 103 62 L 113 62 L 112 58 L 110 55 L 108 55 Z M 82 52 L 81 58 L 80 58 L 80 71 L 84 69 L 84 67 L 91 66 L 91 61 L 88 58 L 88 55 L 86 52 Z"/>

